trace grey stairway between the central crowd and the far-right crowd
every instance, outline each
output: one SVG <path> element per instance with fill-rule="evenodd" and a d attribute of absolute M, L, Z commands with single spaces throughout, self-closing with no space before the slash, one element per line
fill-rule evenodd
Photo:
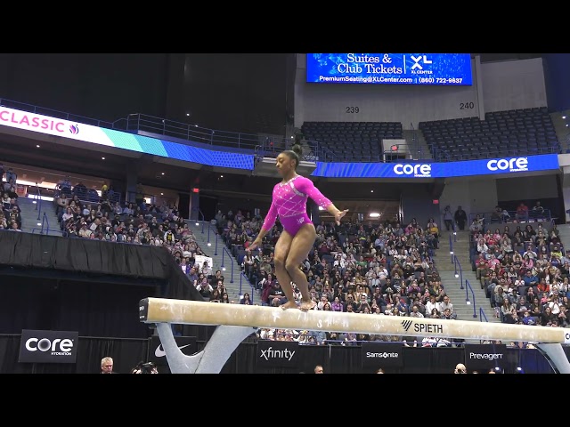
<path fill-rule="evenodd" d="M 454 241 L 453 241 L 454 240 Z M 500 322 L 500 319 L 493 317 L 494 310 L 491 307 L 489 299 L 485 296 L 485 291 L 481 289 L 479 281 L 476 279 L 475 271 L 471 268 L 469 262 L 469 231 L 457 231 L 455 238 L 452 236 L 453 254 L 457 257 L 457 273 L 462 271 L 459 278 L 455 277 L 456 263 L 452 262 L 452 254 L 450 254 L 449 235 L 446 231 L 442 233 L 440 238 L 439 249 L 436 250 L 436 269 L 442 278 L 442 285 L 445 293 L 449 295 L 453 304 L 453 308 L 460 320 L 473 321 L 489 321 L 493 323 Z M 460 269 L 461 268 L 461 269 Z M 461 289 L 461 278 L 463 279 L 463 289 Z M 468 280 L 471 289 L 465 285 Z M 475 299 L 475 313 L 474 300 Z M 469 303 L 468 303 L 469 302 Z M 480 318 L 479 309 L 483 309 L 485 316 Z M 476 317 L 474 317 L 476 315 Z"/>

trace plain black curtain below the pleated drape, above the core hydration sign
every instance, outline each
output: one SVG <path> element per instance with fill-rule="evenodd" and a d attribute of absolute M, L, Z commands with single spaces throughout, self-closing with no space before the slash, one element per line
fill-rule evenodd
<path fill-rule="evenodd" d="M 77 331 L 85 336 L 147 338 L 138 302 L 157 286 L 0 276 L 0 334 L 22 329 Z"/>

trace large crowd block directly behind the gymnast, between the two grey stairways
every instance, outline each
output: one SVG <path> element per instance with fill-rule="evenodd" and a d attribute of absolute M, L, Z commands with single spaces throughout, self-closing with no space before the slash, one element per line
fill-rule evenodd
<path fill-rule="evenodd" d="M 249 251 L 263 223 L 259 212 L 237 210 L 216 214 L 216 227 L 224 243 L 236 254 L 243 273 L 254 286 L 262 306 L 286 302 L 274 274 L 274 246 L 282 227 L 276 222 L 267 233 L 263 250 Z M 421 225 L 415 219 L 401 222 L 317 222 L 314 248 L 300 266 L 309 281 L 314 310 L 367 313 L 379 316 L 456 319 L 434 262 L 439 230 L 434 220 Z M 296 298 L 300 298 L 293 284 Z M 249 294 L 240 303 L 251 304 Z M 341 345 L 362 341 L 398 341 L 405 345 L 449 346 L 436 337 L 380 334 L 338 334 L 323 331 L 262 329 L 262 339 Z M 456 340 L 460 342 L 462 340 Z M 408 343 L 409 342 L 409 343 Z"/>

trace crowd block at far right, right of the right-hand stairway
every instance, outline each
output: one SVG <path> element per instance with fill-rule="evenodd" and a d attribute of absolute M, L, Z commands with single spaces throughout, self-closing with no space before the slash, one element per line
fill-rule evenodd
<path fill-rule="evenodd" d="M 533 211 L 540 207 L 537 203 Z M 519 211 L 528 221 L 525 209 Z M 497 216 L 501 212 L 498 207 Z M 565 251 L 556 223 L 512 226 L 480 222 L 471 228 L 472 268 L 494 316 L 508 324 L 568 326 L 570 250 Z"/>

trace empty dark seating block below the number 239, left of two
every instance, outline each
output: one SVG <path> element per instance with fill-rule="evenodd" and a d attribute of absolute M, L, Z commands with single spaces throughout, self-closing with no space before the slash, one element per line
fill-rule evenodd
<path fill-rule="evenodd" d="M 347 161 L 379 160 L 383 139 L 403 138 L 399 122 L 305 122 L 301 132 Z"/>

